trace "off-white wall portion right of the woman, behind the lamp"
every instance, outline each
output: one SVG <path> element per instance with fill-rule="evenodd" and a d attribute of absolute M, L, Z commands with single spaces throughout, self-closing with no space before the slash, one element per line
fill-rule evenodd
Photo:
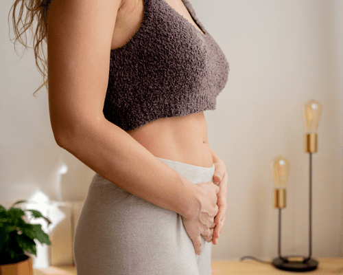
<path fill-rule="evenodd" d="M 279 210 L 270 162 L 290 162 L 281 254 L 307 256 L 309 154 L 303 104 L 322 103 L 313 154 L 312 255 L 343 256 L 343 1 L 192 1 L 224 50 L 228 84 L 206 113 L 209 142 L 228 169 L 228 212 L 213 259 L 277 256 Z"/>

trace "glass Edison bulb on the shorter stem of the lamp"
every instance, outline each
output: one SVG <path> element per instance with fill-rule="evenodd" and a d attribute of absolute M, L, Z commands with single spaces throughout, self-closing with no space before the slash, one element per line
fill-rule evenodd
<path fill-rule="evenodd" d="M 276 157 L 272 162 L 272 178 L 275 188 L 286 188 L 289 173 L 289 161 L 285 157 Z"/>

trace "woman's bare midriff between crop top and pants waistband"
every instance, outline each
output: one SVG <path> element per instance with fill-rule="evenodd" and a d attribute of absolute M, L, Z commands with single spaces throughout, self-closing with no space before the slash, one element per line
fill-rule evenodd
<path fill-rule="evenodd" d="M 128 133 L 155 157 L 212 167 L 204 113 L 161 118 Z"/>

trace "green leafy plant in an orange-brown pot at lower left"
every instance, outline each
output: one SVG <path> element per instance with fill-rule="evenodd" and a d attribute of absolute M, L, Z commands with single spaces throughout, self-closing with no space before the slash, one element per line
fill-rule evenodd
<path fill-rule="evenodd" d="M 43 217 L 37 210 L 22 210 L 14 208 L 16 204 L 26 201 L 17 201 L 6 210 L 0 205 L 0 275 L 32 275 L 32 257 L 37 256 L 36 243 L 51 245 L 49 236 L 42 230 L 40 224 L 30 224 L 22 218 L 25 211 L 32 212 L 32 217 L 43 218 L 50 225 L 51 221 Z"/>

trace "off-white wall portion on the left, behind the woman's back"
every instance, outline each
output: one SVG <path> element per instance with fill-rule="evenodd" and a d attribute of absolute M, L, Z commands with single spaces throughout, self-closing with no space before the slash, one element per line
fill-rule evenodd
<path fill-rule="evenodd" d="M 13 2 L 0 3 L 0 201 L 29 199 L 38 188 L 50 199 L 82 199 L 94 173 L 56 144 L 46 89 L 40 89 L 37 97 L 32 95 L 42 78 L 33 50 L 20 58 L 23 47 L 18 43 L 16 54 L 9 39 L 7 19 Z M 29 36 L 27 41 L 32 45 Z M 69 171 L 60 181 L 56 175 L 63 163 Z"/>

